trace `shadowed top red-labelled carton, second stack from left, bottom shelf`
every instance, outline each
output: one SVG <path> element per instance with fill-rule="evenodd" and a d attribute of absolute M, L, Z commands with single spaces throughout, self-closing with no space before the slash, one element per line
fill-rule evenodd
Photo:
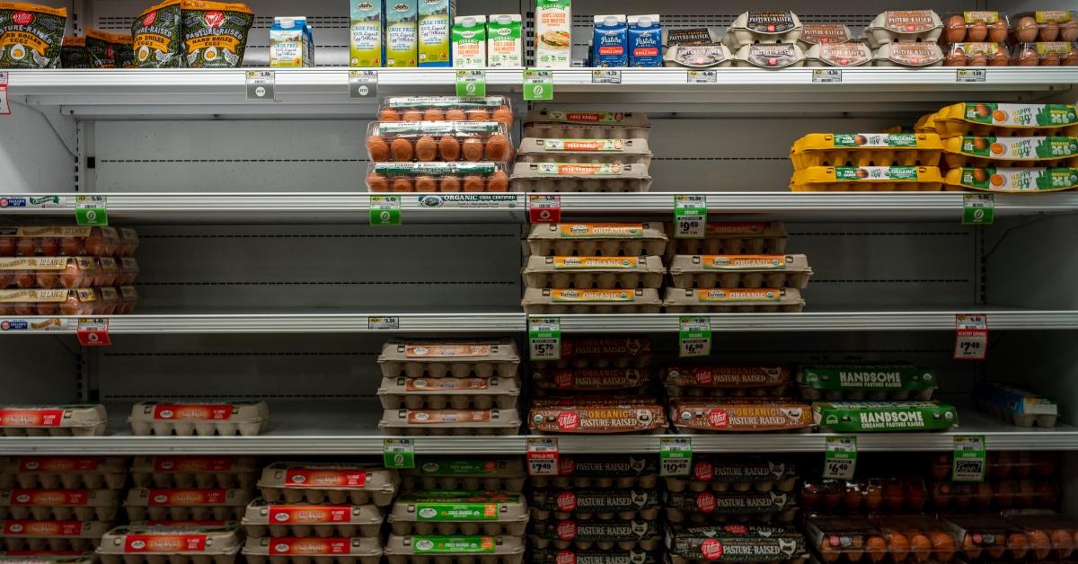
<path fill-rule="evenodd" d="M 137 487 L 239 487 L 254 485 L 253 456 L 136 456 L 132 481 Z"/>

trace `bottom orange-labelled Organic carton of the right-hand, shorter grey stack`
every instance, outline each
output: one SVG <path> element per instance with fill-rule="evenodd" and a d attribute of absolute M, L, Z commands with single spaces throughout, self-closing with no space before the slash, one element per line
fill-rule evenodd
<path fill-rule="evenodd" d="M 798 313 L 805 302 L 796 288 L 666 288 L 666 313 Z"/>

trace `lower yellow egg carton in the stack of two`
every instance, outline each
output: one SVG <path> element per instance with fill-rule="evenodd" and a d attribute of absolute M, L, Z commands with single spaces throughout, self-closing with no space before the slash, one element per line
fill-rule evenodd
<path fill-rule="evenodd" d="M 794 192 L 938 192 L 935 166 L 810 166 L 793 173 Z"/>

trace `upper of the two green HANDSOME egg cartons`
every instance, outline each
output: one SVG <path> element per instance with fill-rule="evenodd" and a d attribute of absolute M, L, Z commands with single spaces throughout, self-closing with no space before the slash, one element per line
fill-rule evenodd
<path fill-rule="evenodd" d="M 798 367 L 801 396 L 807 400 L 932 399 L 936 371 L 907 363 L 805 364 Z"/>

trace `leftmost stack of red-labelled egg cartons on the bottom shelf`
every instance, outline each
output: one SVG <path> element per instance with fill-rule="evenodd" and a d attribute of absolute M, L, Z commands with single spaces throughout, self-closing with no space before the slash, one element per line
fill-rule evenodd
<path fill-rule="evenodd" d="M 0 458 L 0 549 L 91 551 L 115 521 L 126 483 L 123 458 Z"/>

